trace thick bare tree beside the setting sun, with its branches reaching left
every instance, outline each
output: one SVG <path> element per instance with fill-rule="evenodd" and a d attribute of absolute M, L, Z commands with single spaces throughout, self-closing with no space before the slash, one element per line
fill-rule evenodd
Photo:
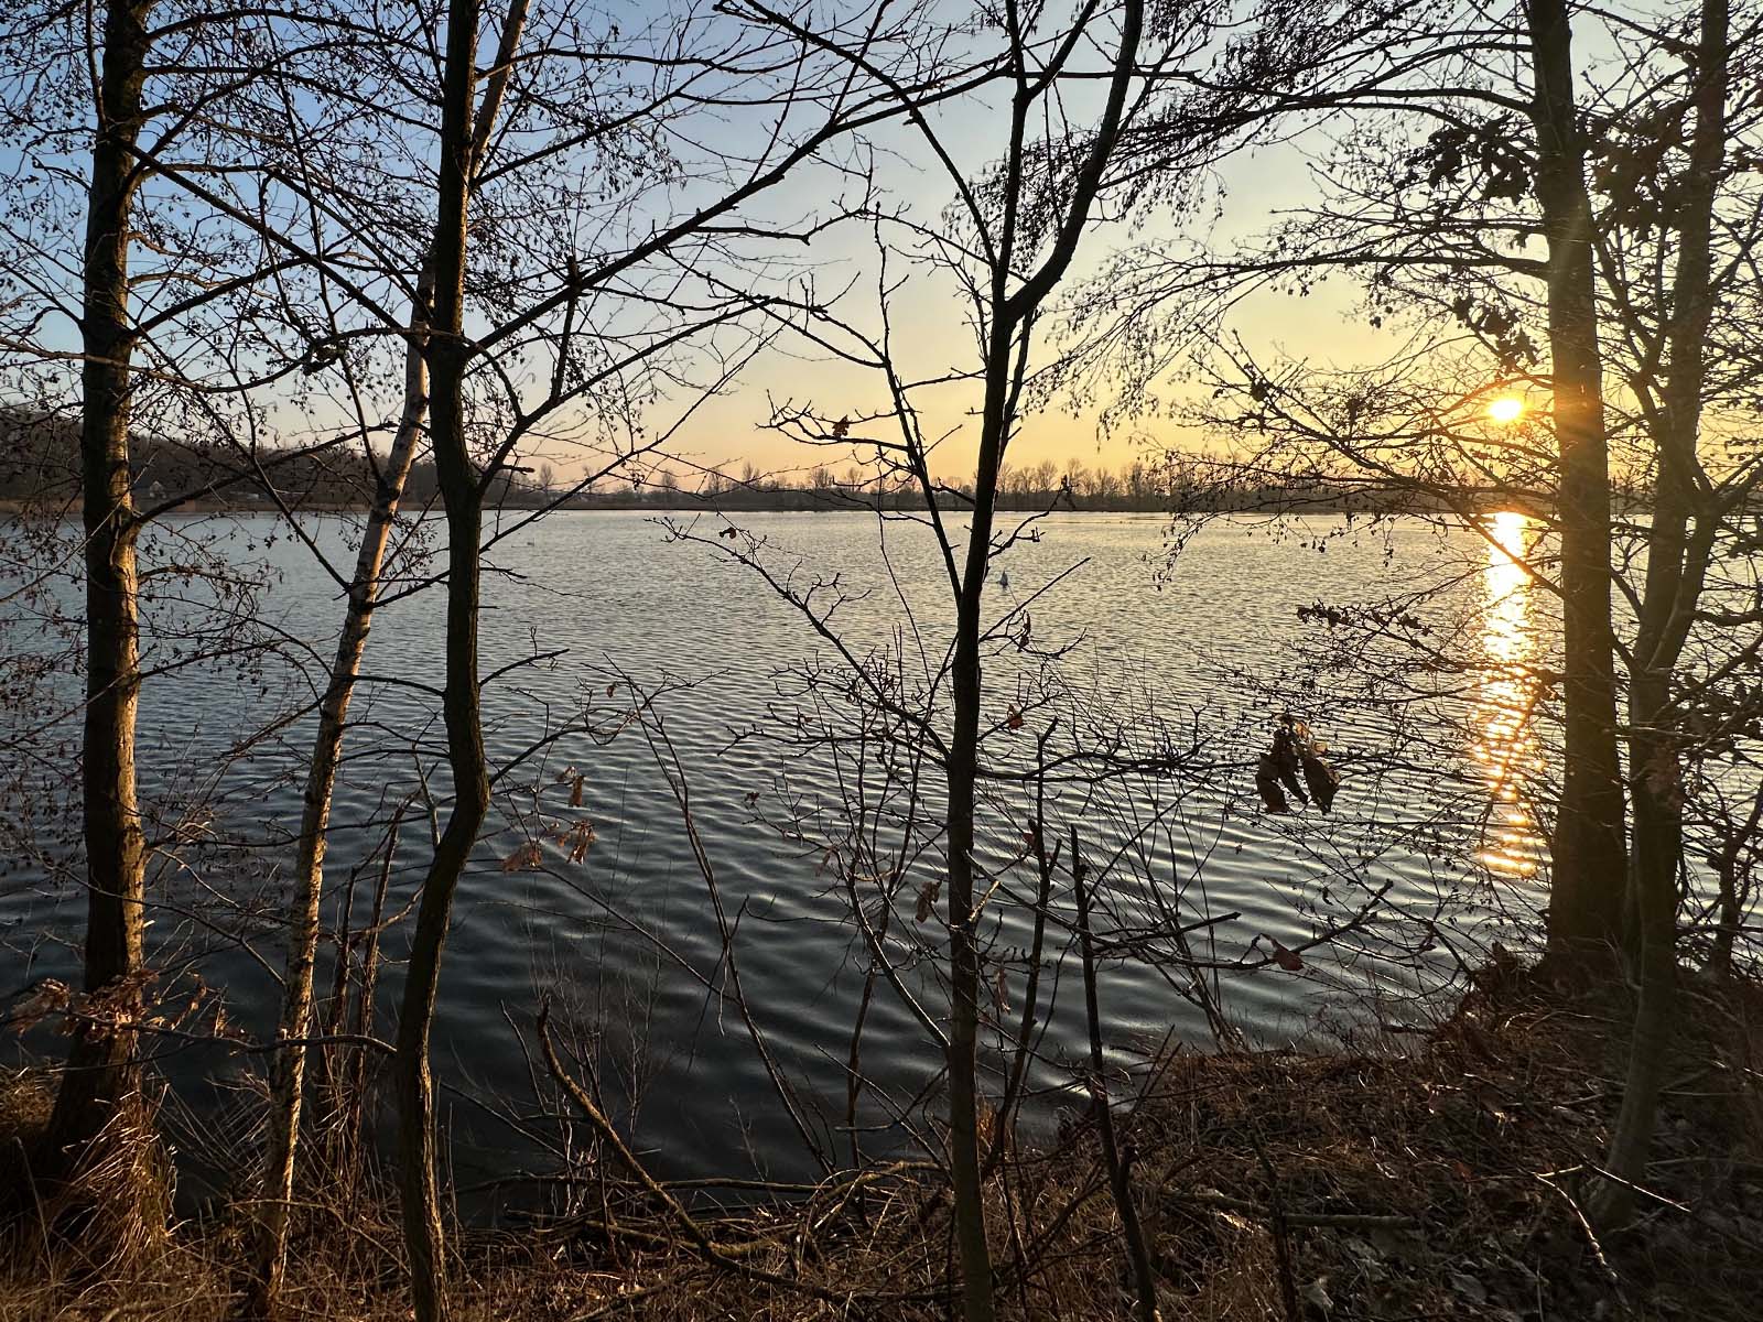
<path fill-rule="evenodd" d="M 1499 363 L 1495 382 L 1530 372 L 1546 340 L 1551 367 L 1537 384 L 1557 420 L 1551 504 L 1566 672 L 1548 936 L 1571 964 L 1615 948 L 1625 857 L 1606 402 L 1596 252 L 1583 238 L 1592 213 L 1587 109 L 1574 88 L 1571 14 L 1539 0 L 1520 11 L 1372 5 L 1356 18 L 1363 26 L 1350 41 L 1326 48 L 1336 76 L 1313 97 L 1287 100 L 1294 115 L 1356 125 L 1324 136 L 1329 145 L 1313 153 L 1322 196 L 1289 208 L 1241 252 L 1202 254 L 1176 240 L 1155 256 L 1135 254 L 1137 273 L 1127 261 L 1111 268 L 1077 317 L 1084 356 L 1125 365 L 1109 412 L 1130 414 L 1194 344 L 1197 326 L 1227 319 L 1252 289 L 1308 294 L 1335 270 L 1363 277 L 1372 328 L 1419 308 L 1486 345 Z M 1328 19 L 1319 12 L 1306 21 Z M 1514 72 L 1518 85 L 1509 85 L 1511 65 L 1483 58 L 1495 49 L 1527 55 L 1529 81 Z M 1537 231 L 1550 243 L 1546 259 L 1521 243 Z M 1149 337 L 1139 319 L 1157 307 L 1169 317 Z M 1546 333 L 1530 335 L 1521 307 Z M 1361 476 L 1387 472 L 1368 467 Z"/>

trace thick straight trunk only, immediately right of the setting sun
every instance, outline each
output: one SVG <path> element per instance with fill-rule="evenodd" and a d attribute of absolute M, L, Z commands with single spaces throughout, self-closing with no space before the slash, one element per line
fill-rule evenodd
<path fill-rule="evenodd" d="M 1610 622 L 1610 458 L 1592 203 L 1573 88 L 1567 0 L 1529 0 L 1537 203 L 1548 236 L 1548 337 L 1560 449 L 1564 779 L 1551 841 L 1548 950 L 1576 962 L 1622 934 L 1624 802 Z"/>

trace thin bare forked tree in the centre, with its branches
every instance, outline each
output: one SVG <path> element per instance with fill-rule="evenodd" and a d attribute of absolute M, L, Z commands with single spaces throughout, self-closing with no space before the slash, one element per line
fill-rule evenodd
<path fill-rule="evenodd" d="M 756 4 L 749 9 L 802 41 L 823 41 L 785 14 Z M 1125 208 L 1139 196 L 1135 183 L 1141 175 L 1128 146 L 1160 120 L 1169 130 L 1169 139 L 1162 141 L 1185 141 L 1172 160 L 1164 159 L 1171 175 L 1185 180 L 1185 169 L 1199 171 L 1215 160 L 1266 109 L 1236 85 L 1225 92 L 1206 86 L 1192 99 L 1164 95 L 1183 78 L 1195 78 L 1213 33 L 1209 23 L 1209 11 L 1181 9 L 1164 16 L 1151 30 L 1144 5 L 1130 0 L 1118 7 L 1084 5 L 1068 21 L 1008 7 L 1000 32 L 989 33 L 996 37 L 996 49 L 982 48 L 973 56 L 975 67 L 991 71 L 1010 92 L 1008 115 L 1000 123 L 1001 145 L 980 171 L 964 169 L 961 153 L 929 113 L 915 106 L 904 90 L 883 83 L 908 106 L 926 159 L 936 164 L 954 196 L 940 224 L 908 220 L 904 233 L 915 243 L 933 245 L 941 270 L 964 298 L 973 335 L 971 363 L 922 375 L 910 365 L 892 323 L 892 247 L 885 220 L 876 226 L 882 296 L 866 317 L 815 300 L 774 305 L 774 316 L 790 321 L 807 342 L 876 375 L 880 400 L 869 409 L 790 402 L 774 411 L 772 427 L 806 444 L 867 457 L 878 471 L 874 485 L 880 492 L 915 492 L 922 513 L 901 516 L 922 524 L 934 538 L 938 578 L 947 580 L 952 622 L 934 643 L 917 631 L 917 624 L 913 636 L 929 654 L 940 656 L 940 663 L 927 657 L 927 673 L 908 684 L 906 675 L 896 673 L 885 657 L 866 661 L 832 626 L 841 601 L 837 580 L 806 582 L 800 571 L 769 566 L 763 539 L 740 529 L 725 531 L 730 541 L 677 529 L 679 536 L 716 546 L 763 575 L 823 640 L 839 649 L 850 666 L 853 691 L 867 694 L 874 705 L 878 728 L 896 728 L 899 739 L 922 742 L 933 751 L 941 781 L 934 795 L 940 800 L 940 874 L 926 880 L 919 892 L 919 918 L 924 920 L 938 902 L 945 906 L 947 1031 L 896 977 L 889 975 L 889 984 L 943 1052 L 947 1160 L 956 1202 L 963 1311 L 968 1318 L 994 1315 L 977 1045 L 986 1001 L 982 992 L 989 985 L 982 929 L 1003 899 L 998 895 L 1001 878 L 980 860 L 978 850 L 980 786 L 993 774 L 982 746 L 1024 724 L 1019 707 L 1012 703 L 1000 710 L 1001 694 L 987 691 L 984 659 L 1005 647 L 1017 654 L 1038 654 L 1026 642 L 1021 606 L 1012 605 L 1001 619 L 987 619 L 986 610 L 987 583 L 1000 559 L 1033 536 L 1042 516 L 1031 513 L 1015 527 L 1000 524 L 1001 501 L 1017 490 L 1010 479 L 1008 451 L 1024 412 L 1040 397 L 1037 381 L 1044 365 L 1037 363 L 1037 330 L 1053 307 L 1051 300 L 1104 206 Z M 1091 69 L 1088 48 L 1102 32 L 1107 33 L 1105 67 Z M 1257 76 L 1271 78 L 1275 69 L 1292 67 L 1294 49 L 1285 49 L 1271 26 L 1257 28 L 1234 44 L 1220 63 L 1248 63 Z M 876 78 L 855 60 L 853 67 Z M 1079 81 L 1105 88 L 1090 116 L 1079 115 L 1063 99 L 1065 88 Z M 1044 122 L 1054 127 L 1049 130 Z M 950 381 L 964 382 L 973 391 L 977 420 L 973 483 L 959 488 L 933 469 L 933 462 L 940 462 L 933 460 L 933 453 L 947 437 L 927 430 L 927 405 L 920 402 L 920 395 Z M 1028 478 L 1024 490 L 1045 499 L 1058 483 L 1058 467 L 1047 462 L 1042 469 Z M 890 506 L 878 499 L 878 511 L 889 508 L 917 506 Z M 966 529 L 957 520 L 964 520 Z M 903 786 L 913 779 L 906 772 L 901 776 L 889 784 Z M 855 858 L 864 857 L 857 850 Z M 897 865 L 880 851 L 867 864 L 853 860 L 848 865 L 887 876 L 890 887 L 899 885 Z M 892 890 L 887 894 L 892 895 Z M 855 920 L 864 925 L 876 961 L 873 968 L 885 971 L 889 964 L 869 920 L 860 910 Z"/>

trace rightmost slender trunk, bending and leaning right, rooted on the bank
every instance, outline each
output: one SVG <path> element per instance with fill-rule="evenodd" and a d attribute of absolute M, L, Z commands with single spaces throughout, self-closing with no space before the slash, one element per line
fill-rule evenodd
<path fill-rule="evenodd" d="M 1608 1170 L 1641 1185 L 1673 1035 L 1677 992 L 1677 878 L 1684 860 L 1682 769 L 1673 732 L 1671 679 L 1701 599 L 1717 516 L 1698 511 L 1701 393 L 1714 312 L 1712 229 L 1715 178 L 1726 155 L 1728 0 L 1703 0 L 1694 71 L 1696 115 L 1678 208 L 1678 254 L 1666 328 L 1670 361 L 1655 423 L 1659 476 L 1647 538 L 1647 583 L 1629 687 L 1629 769 L 1634 857 L 1629 887 L 1640 934 L 1640 1005 L 1629 1073 L 1610 1139 Z M 1601 1223 L 1633 1209 L 1627 1185 L 1606 1181 L 1594 1199 Z"/>

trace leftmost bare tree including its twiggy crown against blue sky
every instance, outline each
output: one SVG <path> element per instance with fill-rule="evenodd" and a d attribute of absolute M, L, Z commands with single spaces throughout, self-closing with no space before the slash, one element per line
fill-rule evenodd
<path fill-rule="evenodd" d="M 69 361 L 81 377 L 86 998 L 51 1125 L 51 1149 L 71 1158 L 138 1086 L 132 1035 L 150 980 L 143 936 L 150 850 L 136 767 L 143 582 L 212 568 L 192 553 L 143 573 L 141 531 L 189 492 L 164 492 L 164 483 L 143 478 L 138 434 L 155 423 L 187 435 L 227 434 L 249 416 L 242 404 L 249 391 L 291 370 L 279 314 L 240 317 L 252 291 L 286 264 L 264 259 L 261 245 L 224 217 L 169 204 L 155 162 L 187 152 L 213 175 L 250 173 L 227 118 L 249 116 L 247 90 L 264 62 L 298 58 L 316 32 L 335 30 L 323 7 L 289 16 L 273 39 L 268 16 L 236 23 L 201 9 L 116 4 L 104 7 L 100 23 L 88 18 L 65 5 L 12 18 L 5 74 L 7 132 L 23 139 L 21 159 L 42 166 L 19 180 L 9 213 L 5 279 L 21 296 L 7 305 L 7 367 L 37 374 L 49 391 L 71 384 Z M 90 152 L 90 169 L 76 201 L 63 164 L 81 150 Z M 79 243 L 74 289 L 58 240 Z M 289 312 L 298 296 L 287 294 Z M 76 353 L 56 340 L 62 316 L 78 323 Z M 217 374 L 215 360 L 233 370 Z M 169 449 L 155 446 L 159 455 Z M 227 624 L 238 628 L 236 619 Z M 203 645 L 192 635 L 189 645 L 192 654 L 178 665 L 196 663 L 203 647 L 210 656 L 243 652 L 247 638 Z"/>

